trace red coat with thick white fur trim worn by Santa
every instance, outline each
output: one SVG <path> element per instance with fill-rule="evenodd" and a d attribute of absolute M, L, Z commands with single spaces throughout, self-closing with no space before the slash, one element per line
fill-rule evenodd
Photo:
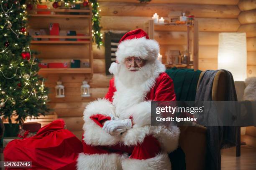
<path fill-rule="evenodd" d="M 172 128 L 160 126 L 151 127 L 150 101 L 176 100 L 172 79 L 165 72 L 161 72 L 157 74 L 154 81 L 150 83 L 147 82 L 146 86 L 143 86 L 142 89 L 144 91 L 141 90 L 141 92 L 138 92 L 138 89 L 136 89 L 136 92 L 134 93 L 133 90 L 129 91 L 122 88 L 123 87 L 120 85 L 118 79 L 111 79 L 109 90 L 105 95 L 105 98 L 92 102 L 87 106 L 84 111 L 85 124 L 83 127 L 83 142 L 86 143 L 87 146 L 115 146 L 118 143 L 131 146 L 142 144 L 147 136 L 154 136 L 154 138 L 158 139 L 163 154 L 159 154 L 155 158 L 148 160 L 140 160 L 146 161 L 146 163 L 133 163 L 133 160 L 129 158 L 122 160 L 117 154 L 108 153 L 108 162 L 114 164 L 120 163 L 122 164 L 122 168 L 120 169 L 124 170 L 136 168 L 136 166 L 133 167 L 131 165 L 136 165 L 137 163 L 138 165 L 144 165 L 145 167 L 138 168 L 137 166 L 136 169 L 150 168 L 152 163 L 154 166 L 169 167 L 170 161 L 167 153 L 172 152 L 178 146 L 179 128 L 176 126 L 173 126 Z M 148 90 L 148 92 L 146 95 L 143 95 L 146 90 Z M 120 117 L 121 119 L 132 118 L 134 123 L 133 128 L 119 136 L 111 136 L 105 133 L 105 131 L 102 130 L 100 121 L 110 120 L 110 114 Z M 82 170 L 83 168 L 79 167 L 88 167 L 88 163 L 97 162 L 98 164 L 104 159 L 104 155 L 102 154 L 80 155 L 78 158 L 78 169 Z M 95 160 L 97 161 L 95 162 Z M 163 162 L 165 162 L 166 165 L 164 165 Z M 106 166 L 104 163 L 106 163 L 106 161 L 102 162 L 103 167 L 99 167 L 99 169 L 104 169 Z M 99 164 L 99 166 L 100 165 L 101 164 Z M 116 166 L 118 167 L 118 165 Z M 114 166 L 108 166 L 108 168 L 116 169 Z M 97 168 L 95 168 L 95 170 L 96 169 Z"/>

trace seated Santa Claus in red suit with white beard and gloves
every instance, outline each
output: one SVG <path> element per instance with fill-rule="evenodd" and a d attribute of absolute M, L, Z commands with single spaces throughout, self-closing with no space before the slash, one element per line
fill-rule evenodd
<path fill-rule="evenodd" d="M 105 98 L 84 110 L 84 153 L 78 170 L 170 170 L 177 126 L 151 126 L 151 101 L 176 100 L 172 79 L 157 60 L 159 44 L 141 29 L 126 33 L 109 71 Z"/>

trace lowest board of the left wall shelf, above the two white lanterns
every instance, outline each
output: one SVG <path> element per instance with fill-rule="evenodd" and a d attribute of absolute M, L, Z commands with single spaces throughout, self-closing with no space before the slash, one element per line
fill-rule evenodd
<path fill-rule="evenodd" d="M 74 74 L 74 73 L 92 73 L 92 68 L 41 68 L 39 74 Z"/>

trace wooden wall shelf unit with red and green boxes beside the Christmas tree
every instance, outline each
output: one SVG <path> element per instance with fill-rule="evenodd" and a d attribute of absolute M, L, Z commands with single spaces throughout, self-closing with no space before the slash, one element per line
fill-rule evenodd
<path fill-rule="evenodd" d="M 46 12 L 38 14 L 39 12 Z M 76 15 L 77 14 L 77 15 Z M 32 35 L 33 50 L 41 52 L 38 55 L 41 59 L 48 60 L 50 56 L 59 56 L 64 50 L 66 55 L 64 58 L 58 58 L 58 62 L 67 61 L 67 58 L 81 58 L 82 60 L 89 60 L 90 68 L 41 68 L 38 74 L 45 75 L 60 75 L 61 74 L 93 74 L 93 55 L 92 55 L 92 7 L 85 9 L 33 9 L 28 11 L 28 26 L 38 31 L 39 29 L 47 28 L 50 23 L 59 23 L 60 29 L 75 30 L 80 32 L 87 32 L 86 36 L 68 36 L 64 35 Z M 40 17 L 40 18 L 38 18 Z M 40 22 L 38 23 L 38 20 Z M 82 25 L 82 28 L 79 28 Z M 69 27 L 67 24 L 72 25 Z M 85 25 L 85 26 L 84 26 Z M 72 28 L 72 29 L 71 29 Z M 83 30 L 83 31 L 81 31 Z M 41 40 L 40 40 L 40 39 Z M 39 40 L 38 40 L 39 39 Z M 72 39 L 77 39 L 73 41 Z M 36 45 L 34 45 L 36 44 Z M 56 48 L 56 49 L 55 49 Z M 80 52 L 83 52 L 81 53 Z M 49 53 L 51 51 L 51 53 Z M 51 58 L 53 59 L 53 58 Z M 50 60 L 51 61 L 51 60 Z M 52 60 L 51 62 L 57 62 Z M 47 62 L 46 62 L 47 63 Z"/>

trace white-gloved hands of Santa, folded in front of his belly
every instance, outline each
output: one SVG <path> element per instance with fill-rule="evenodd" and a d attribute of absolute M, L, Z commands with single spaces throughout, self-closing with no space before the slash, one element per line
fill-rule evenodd
<path fill-rule="evenodd" d="M 104 123 L 103 130 L 105 130 L 110 135 L 120 135 L 120 133 L 125 132 L 128 129 L 132 128 L 132 121 L 131 119 L 113 119 L 107 120 Z"/>

